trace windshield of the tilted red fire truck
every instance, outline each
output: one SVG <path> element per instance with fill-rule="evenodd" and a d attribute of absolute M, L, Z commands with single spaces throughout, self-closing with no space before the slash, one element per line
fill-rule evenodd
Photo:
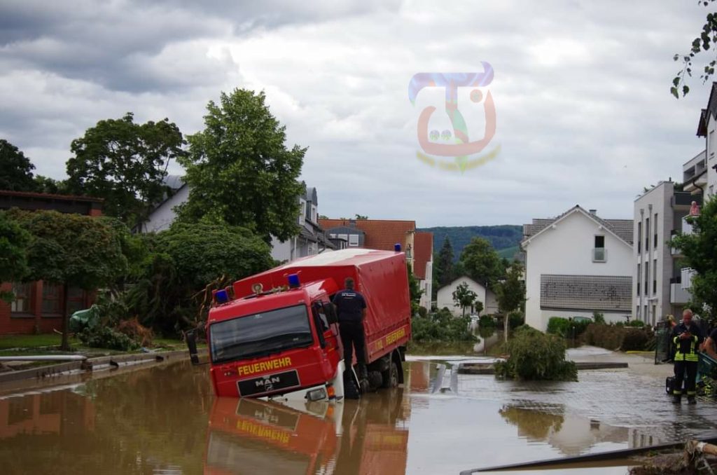
<path fill-rule="evenodd" d="M 219 321 L 209 327 L 212 362 L 260 357 L 313 343 L 305 305 Z"/>

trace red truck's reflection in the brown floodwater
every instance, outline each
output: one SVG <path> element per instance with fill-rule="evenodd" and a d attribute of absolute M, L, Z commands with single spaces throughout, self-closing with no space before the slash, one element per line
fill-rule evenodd
<path fill-rule="evenodd" d="M 217 398 L 204 474 L 403 474 L 405 410 L 402 389 L 339 405 Z"/>

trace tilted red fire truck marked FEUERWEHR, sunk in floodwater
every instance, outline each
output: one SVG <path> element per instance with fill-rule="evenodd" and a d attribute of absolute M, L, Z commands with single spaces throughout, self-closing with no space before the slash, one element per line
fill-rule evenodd
<path fill-rule="evenodd" d="M 366 299 L 362 381 L 353 362 L 343 362 L 331 304 L 348 277 Z M 214 293 L 206 332 L 219 396 L 341 400 L 356 397 L 356 386 L 396 386 L 411 337 L 406 256 L 399 245 L 395 252 L 338 250 L 244 278 Z"/>

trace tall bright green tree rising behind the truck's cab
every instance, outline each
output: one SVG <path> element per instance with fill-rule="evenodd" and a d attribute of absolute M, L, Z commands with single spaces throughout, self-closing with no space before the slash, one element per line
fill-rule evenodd
<path fill-rule="evenodd" d="M 189 136 L 181 159 L 191 187 L 181 220 L 245 227 L 267 243 L 296 235 L 306 149 L 286 148 L 285 127 L 265 102 L 264 93 L 244 89 L 209 101 L 204 131 Z"/>

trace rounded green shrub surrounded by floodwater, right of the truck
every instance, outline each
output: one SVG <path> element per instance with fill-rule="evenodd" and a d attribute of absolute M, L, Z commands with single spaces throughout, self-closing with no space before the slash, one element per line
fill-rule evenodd
<path fill-rule="evenodd" d="M 523 325 L 508 341 L 510 356 L 495 363 L 496 377 L 521 380 L 576 381 L 574 362 L 566 361 L 563 339 Z"/>

